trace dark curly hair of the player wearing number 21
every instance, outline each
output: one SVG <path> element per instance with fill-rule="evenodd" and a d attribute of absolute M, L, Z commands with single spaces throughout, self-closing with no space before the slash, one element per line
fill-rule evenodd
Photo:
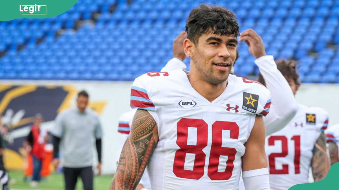
<path fill-rule="evenodd" d="M 293 80 L 296 85 L 300 86 L 299 74 L 297 73 L 297 62 L 294 60 L 276 61 L 278 70 L 287 79 Z M 265 80 L 261 74 L 258 76 L 258 82 L 266 86 Z"/>

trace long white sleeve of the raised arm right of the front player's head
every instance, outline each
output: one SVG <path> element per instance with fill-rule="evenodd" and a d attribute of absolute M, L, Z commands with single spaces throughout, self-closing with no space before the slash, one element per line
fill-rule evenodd
<path fill-rule="evenodd" d="M 272 55 L 266 55 L 254 61 L 265 79 L 271 93 L 271 113 L 264 117 L 266 136 L 286 126 L 298 111 L 298 103 L 290 85 L 277 68 Z"/>

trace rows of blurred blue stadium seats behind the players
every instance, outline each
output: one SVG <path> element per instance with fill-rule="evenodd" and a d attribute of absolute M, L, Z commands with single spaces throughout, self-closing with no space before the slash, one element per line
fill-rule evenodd
<path fill-rule="evenodd" d="M 0 22 L 0 78 L 134 80 L 160 71 L 201 2 L 234 11 L 267 54 L 297 60 L 303 82 L 339 83 L 339 0 L 79 0 L 53 18 Z M 247 45 L 238 51 L 235 74 L 258 74 Z"/>

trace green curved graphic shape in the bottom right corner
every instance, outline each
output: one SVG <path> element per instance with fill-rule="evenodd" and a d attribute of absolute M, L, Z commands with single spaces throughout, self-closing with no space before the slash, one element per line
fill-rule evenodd
<path fill-rule="evenodd" d="M 336 189 L 338 187 L 339 162 L 333 164 L 325 179 L 315 183 L 298 184 L 288 190 Z"/>

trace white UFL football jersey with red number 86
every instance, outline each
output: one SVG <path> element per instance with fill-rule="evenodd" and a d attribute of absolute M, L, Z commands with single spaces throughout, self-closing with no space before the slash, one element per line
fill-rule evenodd
<path fill-rule="evenodd" d="M 258 82 L 235 75 L 227 82 L 210 102 L 183 70 L 135 79 L 131 106 L 148 110 L 158 126 L 159 141 L 147 166 L 152 189 L 238 189 L 244 143 L 256 115 L 269 112 L 271 99 Z"/>

